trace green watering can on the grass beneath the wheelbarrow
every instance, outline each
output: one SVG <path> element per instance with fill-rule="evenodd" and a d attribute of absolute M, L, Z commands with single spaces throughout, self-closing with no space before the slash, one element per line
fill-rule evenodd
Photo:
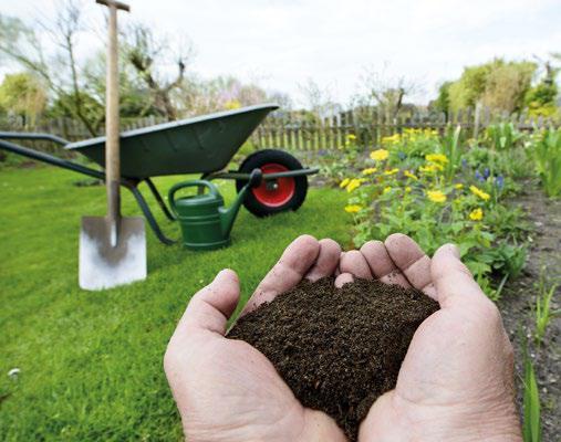
<path fill-rule="evenodd" d="M 214 250 L 229 245 L 231 228 L 243 198 L 250 188 L 259 186 L 261 179 L 261 170 L 254 169 L 230 208 L 224 207 L 222 196 L 210 181 L 183 181 L 169 189 L 169 206 L 181 227 L 184 245 L 193 250 Z M 188 187 L 198 187 L 199 194 L 175 198 L 178 190 Z M 207 188 L 208 192 L 200 192 L 201 188 Z"/>

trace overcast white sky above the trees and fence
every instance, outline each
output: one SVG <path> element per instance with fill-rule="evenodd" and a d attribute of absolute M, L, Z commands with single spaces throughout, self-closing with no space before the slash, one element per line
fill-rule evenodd
<path fill-rule="evenodd" d="M 101 6 L 84 0 L 103 24 Z M 0 0 L 0 12 L 52 17 L 52 0 Z M 346 103 L 365 69 L 420 83 L 426 102 L 465 65 L 561 52 L 560 0 L 129 0 L 134 18 L 188 35 L 190 70 L 231 74 L 289 93 L 308 78 Z M 123 21 L 127 20 L 122 14 Z M 83 44 L 82 52 L 92 52 Z"/>

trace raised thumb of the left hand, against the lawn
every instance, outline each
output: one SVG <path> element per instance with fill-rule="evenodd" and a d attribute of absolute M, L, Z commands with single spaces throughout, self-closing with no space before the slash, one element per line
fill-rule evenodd
<path fill-rule="evenodd" d="M 207 330 L 224 336 L 226 322 L 236 309 L 239 297 L 238 275 L 231 270 L 222 270 L 215 281 L 193 296 L 174 337 L 181 337 L 193 330 Z"/>

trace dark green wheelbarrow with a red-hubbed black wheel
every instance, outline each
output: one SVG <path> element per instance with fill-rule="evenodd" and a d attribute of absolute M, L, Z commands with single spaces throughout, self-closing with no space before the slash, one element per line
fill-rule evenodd
<path fill-rule="evenodd" d="M 298 159 L 283 150 L 258 150 L 243 160 L 239 170 L 225 170 L 233 155 L 251 136 L 264 117 L 277 108 L 276 104 L 262 104 L 165 123 L 121 134 L 121 185 L 133 193 L 146 221 L 160 242 L 173 244 L 176 241 L 166 236 L 157 223 L 146 199 L 138 189 L 138 186 L 143 182 L 146 183 L 166 218 L 170 221 L 179 220 L 184 232 L 184 243 L 194 249 L 215 248 L 212 246 L 212 242 L 207 244 L 208 246 L 193 246 L 194 244 L 197 245 L 197 238 L 199 236 L 196 236 L 195 243 L 193 241 L 190 243 L 189 241 L 185 241 L 186 232 L 187 236 L 193 239 L 193 235 L 189 235 L 190 231 L 188 229 L 200 230 L 201 225 L 205 225 L 204 229 L 212 229 L 208 223 L 201 223 L 200 219 L 194 221 L 189 212 L 194 207 L 197 208 L 205 201 L 208 202 L 209 194 L 212 196 L 212 204 L 216 208 L 216 210 L 212 210 L 216 213 L 224 212 L 224 214 L 218 214 L 219 218 L 221 217 L 221 220 L 228 219 L 227 221 L 220 221 L 222 238 L 220 238 L 218 232 L 216 232 L 215 236 L 211 235 L 212 238 L 217 238 L 217 242 L 220 243 L 218 245 L 225 245 L 229 242 L 225 236 L 229 236 L 228 227 L 231 229 L 237 208 L 241 203 L 257 217 L 297 210 L 302 206 L 308 192 L 308 176 L 316 173 L 319 169 L 303 168 Z M 53 155 L 7 141 L 7 139 L 53 141 L 67 150 L 84 155 L 101 166 L 102 169 L 85 167 Z M 70 169 L 100 180 L 105 179 L 103 171 L 105 164 L 105 137 L 70 143 L 51 134 L 0 131 L 0 149 Z M 256 172 L 251 175 L 253 171 Z M 197 185 L 185 186 L 193 181 L 180 183 L 183 187 L 197 187 L 198 193 L 187 198 L 174 199 L 174 208 L 170 208 L 162 198 L 152 178 L 184 173 L 201 173 Z M 231 212 L 226 213 L 226 209 L 222 207 L 224 200 L 221 200 L 221 197 L 219 199 L 215 198 L 218 194 L 212 189 L 210 189 L 210 192 L 204 193 L 204 189 L 208 189 L 207 182 L 214 179 L 230 179 L 236 181 L 238 198 Z M 175 191 L 179 189 L 176 187 Z M 185 221 L 186 211 L 188 212 L 187 219 L 189 221 Z M 208 239 L 206 235 L 202 236 L 206 239 L 200 239 L 201 243 Z M 218 246 L 217 244 L 215 245 Z"/>

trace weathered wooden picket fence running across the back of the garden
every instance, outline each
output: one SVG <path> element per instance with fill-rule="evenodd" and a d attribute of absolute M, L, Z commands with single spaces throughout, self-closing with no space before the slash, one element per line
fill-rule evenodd
<path fill-rule="evenodd" d="M 122 130 L 153 126 L 166 122 L 163 117 L 123 119 Z M 559 126 L 547 118 L 529 117 L 528 114 L 496 114 L 487 108 L 459 110 L 453 115 L 412 114 L 391 117 L 372 108 L 342 112 L 321 118 L 311 113 L 274 112 L 257 128 L 251 141 L 257 148 L 273 147 L 291 150 L 334 149 L 345 143 L 349 134 L 359 138 L 363 145 L 378 145 L 382 137 L 402 133 L 406 128 L 430 128 L 444 131 L 448 126 L 461 125 L 470 136 L 477 136 L 485 127 L 496 122 L 510 122 L 520 130 L 534 130 L 546 126 Z M 91 134 L 86 126 L 75 119 L 56 118 L 46 120 L 25 120 L 22 117 L 0 119 L 0 130 L 45 131 L 64 137 L 71 141 L 104 134 L 100 127 Z"/>

